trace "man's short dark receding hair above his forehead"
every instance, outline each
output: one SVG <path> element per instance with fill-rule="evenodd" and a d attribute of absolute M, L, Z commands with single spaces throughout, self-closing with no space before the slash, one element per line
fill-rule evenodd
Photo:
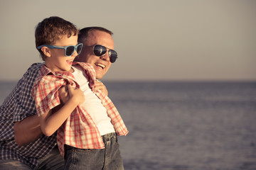
<path fill-rule="evenodd" d="M 80 42 L 80 43 L 85 42 L 87 40 L 88 33 L 92 30 L 100 30 L 105 33 L 109 33 L 110 35 L 113 35 L 112 31 L 107 30 L 106 28 L 103 28 L 103 27 L 97 27 L 97 26 L 86 27 L 86 28 L 82 28 L 81 30 L 79 30 L 78 42 Z"/>

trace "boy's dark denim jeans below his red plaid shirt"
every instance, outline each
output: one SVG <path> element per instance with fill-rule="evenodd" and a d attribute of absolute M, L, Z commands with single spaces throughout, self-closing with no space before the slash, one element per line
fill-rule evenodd
<path fill-rule="evenodd" d="M 65 145 L 65 170 L 123 170 L 117 135 L 102 136 L 105 149 L 78 149 Z"/>

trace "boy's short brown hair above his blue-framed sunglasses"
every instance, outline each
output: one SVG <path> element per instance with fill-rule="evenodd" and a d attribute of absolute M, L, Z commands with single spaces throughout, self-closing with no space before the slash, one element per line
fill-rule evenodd
<path fill-rule="evenodd" d="M 41 23 L 38 23 L 35 31 L 36 47 L 40 45 L 53 45 L 57 40 L 63 38 L 64 35 L 70 38 L 71 36 L 78 35 L 78 28 L 73 23 L 65 21 L 58 16 L 51 16 L 45 18 Z M 38 49 L 41 58 L 45 60 L 45 55 Z"/>

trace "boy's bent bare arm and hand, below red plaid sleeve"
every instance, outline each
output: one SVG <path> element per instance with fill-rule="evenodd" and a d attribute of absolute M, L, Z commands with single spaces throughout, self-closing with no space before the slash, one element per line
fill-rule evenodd
<path fill-rule="evenodd" d="M 74 111 L 78 104 L 85 101 L 85 96 L 81 89 L 73 89 L 70 84 L 68 84 L 68 94 L 70 98 L 58 111 L 55 113 L 48 111 L 47 113 L 43 113 L 43 115 L 39 116 L 41 130 L 44 135 L 53 135 L 53 133 L 60 128 L 68 116 Z"/>

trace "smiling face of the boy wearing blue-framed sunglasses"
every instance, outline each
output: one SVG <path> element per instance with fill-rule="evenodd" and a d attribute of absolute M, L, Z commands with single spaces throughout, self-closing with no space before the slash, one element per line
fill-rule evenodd
<path fill-rule="evenodd" d="M 63 36 L 60 40 L 57 40 L 55 44 L 58 46 L 78 45 L 78 36 Z M 48 49 L 49 55 L 46 57 L 46 66 L 53 72 L 73 72 L 71 69 L 73 60 L 78 55 L 75 51 L 70 57 L 65 56 L 64 49 Z"/>

